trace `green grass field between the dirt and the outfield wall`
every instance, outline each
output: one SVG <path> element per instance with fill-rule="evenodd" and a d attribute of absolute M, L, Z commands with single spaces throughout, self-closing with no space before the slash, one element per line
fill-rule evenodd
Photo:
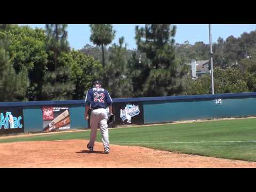
<path fill-rule="evenodd" d="M 89 139 L 90 131 L 0 139 L 3 142 Z M 110 144 L 256 162 L 256 118 L 109 130 Z M 97 141 L 101 141 L 98 131 Z"/>

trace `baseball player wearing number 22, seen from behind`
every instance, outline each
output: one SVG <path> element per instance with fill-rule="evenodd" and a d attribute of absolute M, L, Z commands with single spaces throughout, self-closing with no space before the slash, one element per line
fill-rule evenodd
<path fill-rule="evenodd" d="M 87 148 L 93 151 L 94 141 L 97 135 L 97 129 L 100 128 L 102 142 L 104 146 L 104 153 L 108 154 L 110 151 L 109 140 L 108 140 L 108 124 L 107 124 L 107 107 L 109 113 L 112 114 L 112 99 L 107 90 L 101 87 L 99 81 L 94 82 L 92 89 L 87 91 L 85 97 L 85 119 L 89 119 L 89 109 L 91 108 L 91 135 L 90 142 L 87 144 Z"/>

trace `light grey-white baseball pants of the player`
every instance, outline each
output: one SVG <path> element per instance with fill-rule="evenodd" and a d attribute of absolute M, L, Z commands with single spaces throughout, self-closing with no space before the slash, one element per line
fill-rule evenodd
<path fill-rule="evenodd" d="M 90 126 L 91 126 L 91 135 L 90 135 L 90 142 L 89 146 L 93 147 L 94 142 L 97 136 L 97 129 L 100 129 L 101 137 L 103 146 L 109 148 L 109 140 L 108 140 L 108 124 L 107 124 L 107 110 L 100 108 L 100 109 L 93 109 L 91 111 L 90 116 Z"/>

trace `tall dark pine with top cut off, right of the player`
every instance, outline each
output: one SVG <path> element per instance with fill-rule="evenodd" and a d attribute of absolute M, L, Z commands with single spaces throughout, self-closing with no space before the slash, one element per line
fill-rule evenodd
<path fill-rule="evenodd" d="M 178 84 L 178 63 L 175 61 L 174 36 L 176 26 L 146 24 L 135 27 L 138 50 L 150 60 L 150 73 L 143 93 L 145 96 L 172 95 L 181 91 Z"/>

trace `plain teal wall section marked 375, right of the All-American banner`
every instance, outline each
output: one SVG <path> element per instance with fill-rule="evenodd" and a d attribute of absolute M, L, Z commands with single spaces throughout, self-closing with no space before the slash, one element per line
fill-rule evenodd
<path fill-rule="evenodd" d="M 215 103 L 221 99 L 221 103 Z M 218 102 L 218 100 L 217 100 Z M 256 94 L 214 94 L 143 100 L 144 122 L 161 123 L 193 119 L 256 115 Z"/>

